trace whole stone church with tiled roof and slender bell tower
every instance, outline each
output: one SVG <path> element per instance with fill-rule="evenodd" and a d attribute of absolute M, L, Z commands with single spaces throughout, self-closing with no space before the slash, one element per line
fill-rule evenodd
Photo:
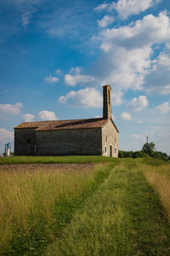
<path fill-rule="evenodd" d="M 118 157 L 111 86 L 103 86 L 103 118 L 26 122 L 14 127 L 15 155 L 88 154 Z"/>

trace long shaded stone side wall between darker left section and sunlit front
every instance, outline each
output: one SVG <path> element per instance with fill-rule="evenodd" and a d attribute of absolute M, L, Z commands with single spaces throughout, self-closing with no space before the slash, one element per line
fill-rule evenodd
<path fill-rule="evenodd" d="M 101 128 L 35 131 L 37 155 L 101 154 Z"/>

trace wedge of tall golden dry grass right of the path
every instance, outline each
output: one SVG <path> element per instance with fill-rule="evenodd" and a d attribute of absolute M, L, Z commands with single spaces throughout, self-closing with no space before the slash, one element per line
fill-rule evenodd
<path fill-rule="evenodd" d="M 160 196 L 170 221 L 170 165 L 144 166 L 144 176 Z"/>

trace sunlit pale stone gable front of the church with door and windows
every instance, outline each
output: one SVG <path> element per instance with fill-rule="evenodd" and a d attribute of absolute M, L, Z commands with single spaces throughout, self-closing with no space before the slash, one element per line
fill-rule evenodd
<path fill-rule="evenodd" d="M 104 156 L 118 157 L 118 132 L 111 120 L 102 128 L 102 152 Z"/>

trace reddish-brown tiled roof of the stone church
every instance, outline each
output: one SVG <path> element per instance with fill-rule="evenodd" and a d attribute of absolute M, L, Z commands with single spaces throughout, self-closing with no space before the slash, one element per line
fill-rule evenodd
<path fill-rule="evenodd" d="M 84 128 L 101 128 L 109 119 L 76 119 L 76 120 L 54 120 L 54 121 L 39 121 L 22 123 L 14 127 L 19 128 L 34 128 L 35 131 L 48 130 L 65 130 L 65 129 L 84 129 Z M 116 127 L 116 125 L 113 123 Z M 116 129 L 117 130 L 117 129 Z"/>

